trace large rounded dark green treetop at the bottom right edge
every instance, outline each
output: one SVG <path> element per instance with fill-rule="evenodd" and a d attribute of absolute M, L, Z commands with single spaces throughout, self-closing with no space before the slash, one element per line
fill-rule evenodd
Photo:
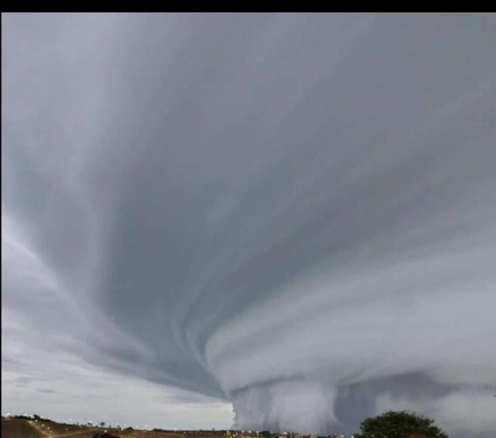
<path fill-rule="evenodd" d="M 355 438 L 448 438 L 435 426 L 434 420 L 406 410 L 390 410 L 378 417 L 367 418 L 360 425 Z"/>

